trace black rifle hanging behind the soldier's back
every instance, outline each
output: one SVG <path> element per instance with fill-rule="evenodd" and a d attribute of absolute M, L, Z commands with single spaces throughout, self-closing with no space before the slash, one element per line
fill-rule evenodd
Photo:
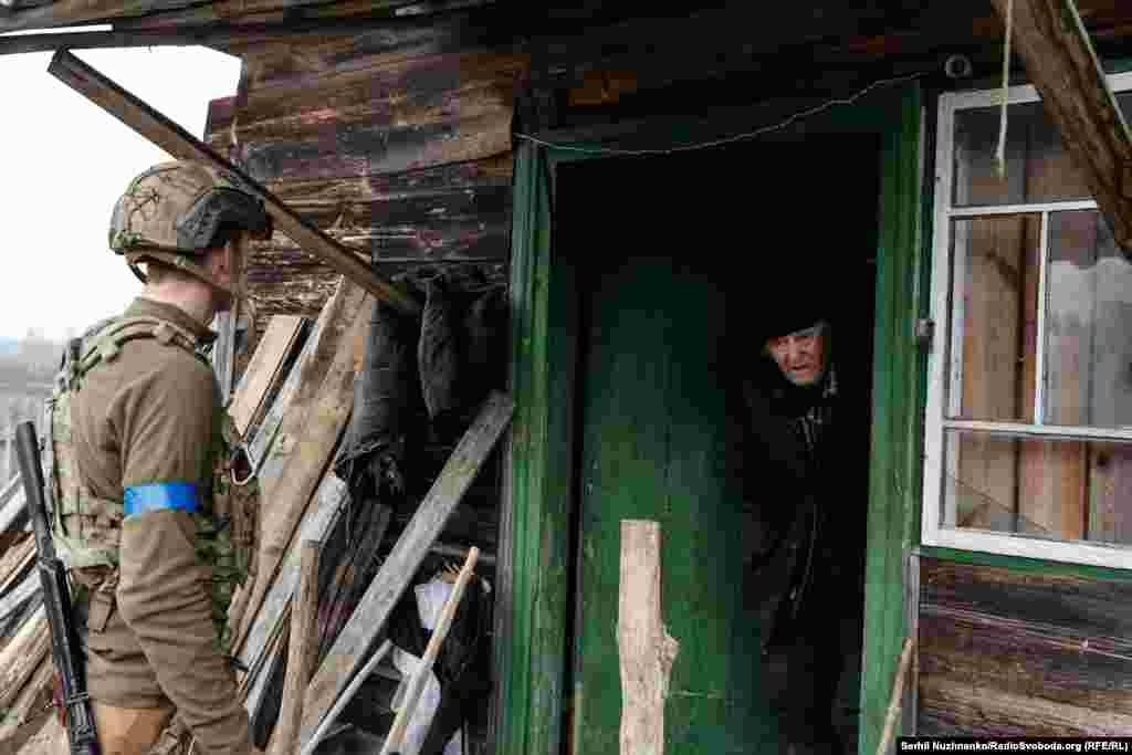
<path fill-rule="evenodd" d="M 98 755 L 94 714 L 91 710 L 91 697 L 86 693 L 86 676 L 82 663 L 83 650 L 78 642 L 75 617 L 71 615 L 67 569 L 55 557 L 55 546 L 51 540 L 51 525 L 44 503 L 40 441 L 35 437 L 35 426 L 32 422 L 20 422 L 16 426 L 16 456 L 19 461 L 20 479 L 24 481 L 27 512 L 35 533 L 43 606 L 48 614 L 48 628 L 51 630 L 51 658 L 62 683 L 63 717 L 70 752 L 71 755 Z"/>

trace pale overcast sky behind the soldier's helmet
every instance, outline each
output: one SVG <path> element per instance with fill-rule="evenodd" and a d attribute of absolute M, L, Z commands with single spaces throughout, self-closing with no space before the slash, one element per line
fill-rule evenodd
<path fill-rule="evenodd" d="M 235 94 L 238 58 L 205 48 L 74 53 L 190 134 Z M 0 336 L 52 340 L 120 312 L 142 284 L 106 246 L 129 181 L 169 155 L 46 72 L 51 53 L 0 55 Z"/>

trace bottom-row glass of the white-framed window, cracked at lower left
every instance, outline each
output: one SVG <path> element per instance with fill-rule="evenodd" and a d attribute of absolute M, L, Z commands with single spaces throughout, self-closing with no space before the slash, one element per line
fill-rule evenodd
<path fill-rule="evenodd" d="M 949 430 L 946 527 L 1132 544 L 1132 444 Z"/>

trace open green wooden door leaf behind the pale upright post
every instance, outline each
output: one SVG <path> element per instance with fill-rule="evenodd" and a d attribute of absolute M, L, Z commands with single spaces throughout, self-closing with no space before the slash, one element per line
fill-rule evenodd
<path fill-rule="evenodd" d="M 773 723 L 757 695 L 761 627 L 743 600 L 728 274 L 696 244 L 693 224 L 649 222 L 676 212 L 658 180 L 663 164 L 585 165 L 584 203 L 567 198 L 566 171 L 559 182 L 564 254 L 577 250 L 582 292 L 573 752 L 620 752 L 621 520 L 661 526 L 662 614 L 679 643 L 666 754 L 754 753 L 758 743 L 773 752 Z M 572 222 L 580 204 L 591 223 Z M 597 220 L 611 206 L 624 222 Z M 600 247 L 584 238 L 594 223 Z"/>

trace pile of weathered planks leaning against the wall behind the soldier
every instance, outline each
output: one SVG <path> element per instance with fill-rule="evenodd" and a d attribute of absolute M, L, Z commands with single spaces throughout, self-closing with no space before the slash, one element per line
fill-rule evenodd
<path fill-rule="evenodd" d="M 230 406 L 245 434 L 248 472 L 258 480 L 260 516 L 256 573 L 233 598 L 229 624 L 232 652 L 243 669 L 240 694 L 254 740 L 265 752 L 315 752 L 316 729 L 326 723 L 320 737 L 333 733 L 333 721 L 324 722 L 327 712 L 346 702 L 340 698 L 352 680 L 355 680 L 359 669 L 430 554 L 466 552 L 438 539 L 513 411 L 503 394 L 488 397 L 400 533 L 391 526 L 389 501 L 352 499 L 332 462 L 354 400 L 371 302 L 372 294 L 343 278 L 317 321 L 274 318 Z M 406 501 L 396 503 L 404 508 Z M 414 501 L 408 503 L 412 508 Z M 50 650 L 22 507 L 17 479 L 0 491 L 0 537 L 8 540 L 0 550 L 0 755 L 44 752 L 63 741 L 44 710 Z M 302 563 L 303 543 L 312 541 L 317 568 Z M 481 565 L 492 560 L 488 555 Z M 300 578 L 305 569 L 307 582 Z M 295 629 L 291 614 L 301 582 L 303 594 L 315 595 L 317 604 L 297 611 L 302 628 Z M 307 637 L 306 647 L 289 647 L 292 632 Z M 289 657 L 314 660 L 305 672 L 289 670 Z M 398 676 L 388 663 L 379 674 Z M 303 675 L 309 679 L 295 678 Z M 286 700 L 285 684 L 292 688 Z M 291 726 L 276 727 L 284 705 Z M 281 730 L 275 741 L 273 733 Z"/>

